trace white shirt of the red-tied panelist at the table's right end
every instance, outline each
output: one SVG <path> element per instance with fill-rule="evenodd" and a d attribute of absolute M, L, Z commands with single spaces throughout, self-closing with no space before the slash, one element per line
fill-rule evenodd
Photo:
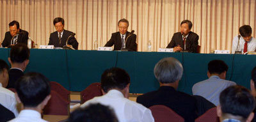
<path fill-rule="evenodd" d="M 232 42 L 232 54 L 234 54 L 236 51 L 244 52 L 244 38 L 241 36 L 239 40 L 239 45 L 237 47 L 238 43 L 238 36 L 235 36 Z M 256 39 L 251 38 L 251 40 L 247 43 L 247 51 L 255 51 L 256 50 Z"/>

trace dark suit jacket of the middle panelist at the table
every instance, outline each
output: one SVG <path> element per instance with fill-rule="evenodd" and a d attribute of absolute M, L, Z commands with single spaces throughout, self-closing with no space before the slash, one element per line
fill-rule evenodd
<path fill-rule="evenodd" d="M 127 31 L 125 40 L 127 39 L 130 32 Z M 106 43 L 104 47 L 111 47 L 114 45 L 114 50 L 121 50 L 122 48 L 122 39 L 120 36 L 120 32 L 112 33 L 110 40 Z M 132 34 L 129 36 L 127 41 L 125 42 L 125 49 L 129 51 L 137 51 L 137 43 L 136 43 L 136 34 Z"/>

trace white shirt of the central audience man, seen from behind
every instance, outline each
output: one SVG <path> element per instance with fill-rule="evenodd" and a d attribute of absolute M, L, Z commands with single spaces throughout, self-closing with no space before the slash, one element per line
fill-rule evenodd
<path fill-rule="evenodd" d="M 90 103 L 100 103 L 111 107 L 120 122 L 152 122 L 154 118 L 149 109 L 140 103 L 133 102 L 124 97 L 124 95 L 115 89 L 108 91 L 106 95 L 98 96 L 92 100 L 83 103 L 81 107 L 85 107 Z"/>

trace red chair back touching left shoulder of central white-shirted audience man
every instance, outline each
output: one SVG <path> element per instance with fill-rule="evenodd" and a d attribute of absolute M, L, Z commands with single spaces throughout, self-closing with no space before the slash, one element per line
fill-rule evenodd
<path fill-rule="evenodd" d="M 86 89 L 81 91 L 81 104 L 94 98 L 95 96 L 102 96 L 100 82 L 94 82 L 90 84 Z"/>

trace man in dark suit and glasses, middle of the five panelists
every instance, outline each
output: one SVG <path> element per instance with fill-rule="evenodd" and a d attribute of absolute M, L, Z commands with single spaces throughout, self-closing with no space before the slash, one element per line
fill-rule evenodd
<path fill-rule="evenodd" d="M 111 47 L 114 45 L 114 50 L 126 49 L 129 51 L 137 51 L 136 34 L 128 32 L 128 26 L 128 20 L 119 20 L 119 31 L 116 33 L 112 33 L 110 40 L 106 43 L 104 47 Z"/>

